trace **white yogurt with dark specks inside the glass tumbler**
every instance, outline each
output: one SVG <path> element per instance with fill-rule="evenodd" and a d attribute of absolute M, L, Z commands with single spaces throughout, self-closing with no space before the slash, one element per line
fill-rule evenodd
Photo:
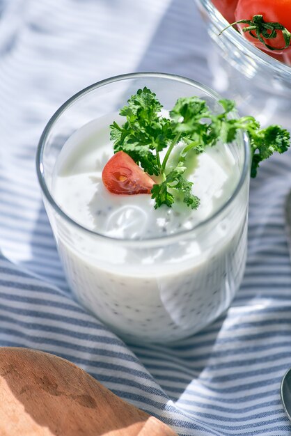
<path fill-rule="evenodd" d="M 173 341 L 211 322 L 235 295 L 246 255 L 248 189 L 221 217 L 185 235 L 233 194 L 241 173 L 233 153 L 221 144 L 188 160 L 197 210 L 183 203 L 155 210 L 148 194 L 111 194 L 102 184 L 102 169 L 113 155 L 109 124 L 117 118 L 94 120 L 75 132 L 51 180 L 65 214 L 109 238 L 59 222 L 58 249 L 75 295 L 104 323 L 129 339 Z"/>

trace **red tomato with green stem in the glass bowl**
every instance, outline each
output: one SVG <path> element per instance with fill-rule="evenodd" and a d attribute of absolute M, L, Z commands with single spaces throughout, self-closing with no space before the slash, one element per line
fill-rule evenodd
<path fill-rule="evenodd" d="M 264 22 L 277 22 L 282 24 L 288 31 L 291 32 L 291 0 L 238 0 L 235 8 L 235 22 L 239 20 L 251 20 L 254 15 L 262 15 Z M 260 40 L 253 38 L 255 32 L 243 32 L 242 29 L 248 24 L 237 24 L 244 37 L 251 41 L 256 47 L 268 49 Z M 277 31 L 276 38 L 262 38 L 267 45 L 276 49 L 276 53 L 283 52 L 285 40 L 281 30 Z"/>

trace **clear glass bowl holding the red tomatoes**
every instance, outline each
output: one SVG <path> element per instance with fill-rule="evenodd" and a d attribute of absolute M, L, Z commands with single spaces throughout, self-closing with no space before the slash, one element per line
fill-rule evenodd
<path fill-rule="evenodd" d="M 257 49 L 228 22 L 211 0 L 196 0 L 212 39 L 208 56 L 213 87 L 237 102 L 242 114 L 262 125 L 291 127 L 291 68 Z"/>

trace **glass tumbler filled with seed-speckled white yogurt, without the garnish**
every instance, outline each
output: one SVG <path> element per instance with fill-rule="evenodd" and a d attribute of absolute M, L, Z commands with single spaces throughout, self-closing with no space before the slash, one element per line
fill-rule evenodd
<path fill-rule="evenodd" d="M 38 148 L 38 177 L 75 297 L 127 341 L 165 343 L 212 322 L 239 288 L 249 147 L 241 135 L 189 157 L 197 210 L 181 203 L 155 210 L 148 194 L 107 192 L 101 173 L 113 155 L 109 125 L 143 86 L 165 109 L 181 96 L 198 95 L 219 111 L 219 96 L 182 77 L 146 73 L 103 81 L 49 121 Z"/>

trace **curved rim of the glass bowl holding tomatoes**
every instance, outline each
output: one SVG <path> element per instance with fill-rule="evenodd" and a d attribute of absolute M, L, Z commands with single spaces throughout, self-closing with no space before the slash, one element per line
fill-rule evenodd
<path fill-rule="evenodd" d="M 221 15 L 219 10 L 214 6 L 211 0 L 196 0 L 196 2 L 200 3 L 207 13 L 210 15 L 212 21 L 217 24 L 217 28 L 219 31 L 222 31 L 229 26 L 228 21 Z M 217 36 L 217 38 L 228 38 L 233 42 L 239 50 L 243 50 L 243 52 L 251 52 L 252 56 L 254 56 L 255 60 L 258 60 L 265 64 L 267 68 L 272 68 L 276 72 L 282 73 L 286 75 L 286 79 L 290 80 L 290 72 L 291 67 L 287 64 L 278 61 L 277 59 L 272 58 L 267 53 L 262 52 L 262 50 L 255 47 L 255 45 L 251 44 L 246 38 L 243 38 L 242 35 L 235 30 L 233 26 L 228 27 L 226 31 L 223 32 L 223 35 Z"/>

